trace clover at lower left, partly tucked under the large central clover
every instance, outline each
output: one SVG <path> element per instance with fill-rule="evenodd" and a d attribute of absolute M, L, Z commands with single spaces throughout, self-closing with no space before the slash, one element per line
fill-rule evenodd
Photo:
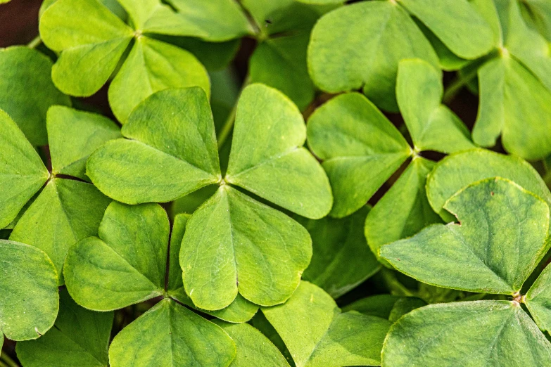
<path fill-rule="evenodd" d="M 181 222 L 176 231 L 181 237 Z M 165 297 L 115 337 L 109 352 L 113 366 L 156 366 L 172 360 L 228 366 L 235 354 L 232 340 L 171 297 L 182 281 L 178 271 L 170 270 L 175 261 L 168 252 L 169 233 L 160 205 L 112 202 L 101 221 L 100 238 L 84 238 L 69 250 L 64 269 L 68 291 L 78 304 L 98 311 Z M 135 342 L 141 337 L 148 340 L 147 348 Z"/>

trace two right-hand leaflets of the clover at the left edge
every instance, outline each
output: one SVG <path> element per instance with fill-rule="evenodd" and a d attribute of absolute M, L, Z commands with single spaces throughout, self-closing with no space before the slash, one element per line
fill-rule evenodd
<path fill-rule="evenodd" d="M 63 106 L 48 110 L 46 125 L 53 177 L 21 214 L 10 239 L 46 252 L 56 265 L 59 285 L 63 285 L 67 250 L 82 238 L 97 235 L 111 202 L 94 185 L 77 179 L 87 179 L 84 162 L 88 155 L 120 132 L 105 117 Z"/>

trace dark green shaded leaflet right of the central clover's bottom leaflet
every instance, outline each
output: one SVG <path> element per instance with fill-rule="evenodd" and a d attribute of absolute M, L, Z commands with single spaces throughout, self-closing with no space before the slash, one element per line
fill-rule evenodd
<path fill-rule="evenodd" d="M 369 250 L 363 226 L 369 212 L 362 207 L 343 219 L 297 218 L 312 237 L 312 261 L 303 279 L 323 288 L 333 298 L 341 297 L 379 270 Z"/>

